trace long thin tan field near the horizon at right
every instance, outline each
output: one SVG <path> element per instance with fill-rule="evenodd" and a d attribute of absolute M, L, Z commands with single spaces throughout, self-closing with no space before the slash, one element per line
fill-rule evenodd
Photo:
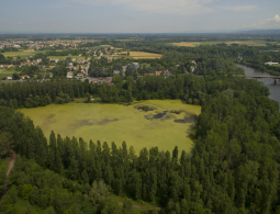
<path fill-rule="evenodd" d="M 215 44 L 222 44 L 225 43 L 227 45 L 232 44 L 238 44 L 238 45 L 248 45 L 248 46 L 266 46 L 265 41 L 231 41 L 231 42 L 181 42 L 181 43 L 167 43 L 169 45 L 173 46 L 184 46 L 184 47 L 197 47 L 200 45 L 215 45 Z M 277 44 L 277 43 L 270 43 L 270 44 Z"/>

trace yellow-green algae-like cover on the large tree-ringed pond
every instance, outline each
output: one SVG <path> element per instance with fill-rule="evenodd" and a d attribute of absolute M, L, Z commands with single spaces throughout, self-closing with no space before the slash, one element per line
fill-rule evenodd
<path fill-rule="evenodd" d="M 136 110 L 138 104 L 155 106 L 157 110 L 144 112 Z M 176 123 L 175 120 L 184 119 L 184 113 L 166 113 L 161 119 L 147 120 L 159 112 L 183 110 L 199 115 L 201 108 L 183 104 L 179 100 L 149 100 L 134 102 L 132 105 L 101 104 L 101 103 L 68 103 L 51 104 L 44 108 L 21 109 L 30 116 L 35 125 L 42 127 L 48 138 L 51 131 L 63 137 L 76 136 L 85 140 L 114 142 L 117 146 L 125 140 L 133 146 L 136 154 L 144 147 L 149 149 L 158 146 L 159 150 L 189 151 L 192 140 L 188 138 L 188 131 L 192 123 Z"/>

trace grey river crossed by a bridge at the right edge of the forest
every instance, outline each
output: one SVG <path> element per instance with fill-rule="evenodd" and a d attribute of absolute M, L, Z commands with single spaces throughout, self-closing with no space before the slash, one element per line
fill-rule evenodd
<path fill-rule="evenodd" d="M 240 67 L 245 70 L 245 74 L 246 75 L 256 75 L 256 76 L 270 76 L 269 74 L 267 72 L 262 72 L 258 69 L 255 69 L 255 68 L 250 68 L 248 66 L 244 66 L 244 65 L 240 65 L 240 64 L 235 64 L 237 67 Z M 251 78 L 248 78 L 248 79 L 251 79 Z M 270 91 L 270 95 L 269 98 L 271 100 L 276 100 L 280 103 L 280 82 L 278 82 L 277 85 L 275 85 L 273 82 L 273 79 L 272 78 L 260 78 L 259 81 L 262 81 L 268 88 L 269 88 L 269 91 Z"/>

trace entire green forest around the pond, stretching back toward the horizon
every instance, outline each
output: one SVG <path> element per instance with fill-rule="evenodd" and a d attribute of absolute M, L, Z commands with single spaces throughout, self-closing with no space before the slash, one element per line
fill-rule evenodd
<path fill-rule="evenodd" d="M 262 82 L 240 77 L 244 70 L 233 64 L 278 75 L 279 68 L 265 66 L 267 60 L 279 61 L 279 53 L 269 52 L 276 47 L 219 44 L 192 48 L 167 45 L 156 35 L 142 38 L 85 44 L 164 55 L 137 59 L 141 67 L 113 76 L 112 86 L 66 79 L 67 70 L 59 66 L 48 81 L 0 85 L 0 191 L 9 188 L 0 201 L 1 214 L 19 213 L 20 204 L 25 213 L 44 214 L 280 213 L 279 103 L 268 98 Z M 183 40 L 178 35 L 167 42 Z M 268 42 L 278 40 L 271 36 Z M 194 66 L 192 59 L 195 71 L 186 74 Z M 0 55 L 0 60 L 7 59 Z M 105 77 L 132 63 L 119 58 L 109 65 L 102 57 L 92 59 L 89 74 Z M 171 76 L 145 76 L 159 69 L 170 70 Z M 91 102 L 91 95 L 102 103 L 180 99 L 201 105 L 189 133 L 194 143 L 191 153 L 179 154 L 177 142 L 170 142 L 173 150 L 150 147 L 135 154 L 126 142 L 117 147 L 114 142 L 86 142 L 82 136 L 63 138 L 55 132 L 46 138 L 41 127 L 16 111 L 80 98 Z M 16 159 L 5 181 L 11 149 Z M 135 201 L 158 209 L 135 210 Z"/>

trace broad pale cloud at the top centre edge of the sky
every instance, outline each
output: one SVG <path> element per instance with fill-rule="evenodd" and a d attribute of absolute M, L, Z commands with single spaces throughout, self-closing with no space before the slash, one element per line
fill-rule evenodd
<path fill-rule="evenodd" d="M 66 0 L 90 5 L 122 5 L 126 9 L 161 14 L 194 15 L 211 13 L 214 0 Z"/>

